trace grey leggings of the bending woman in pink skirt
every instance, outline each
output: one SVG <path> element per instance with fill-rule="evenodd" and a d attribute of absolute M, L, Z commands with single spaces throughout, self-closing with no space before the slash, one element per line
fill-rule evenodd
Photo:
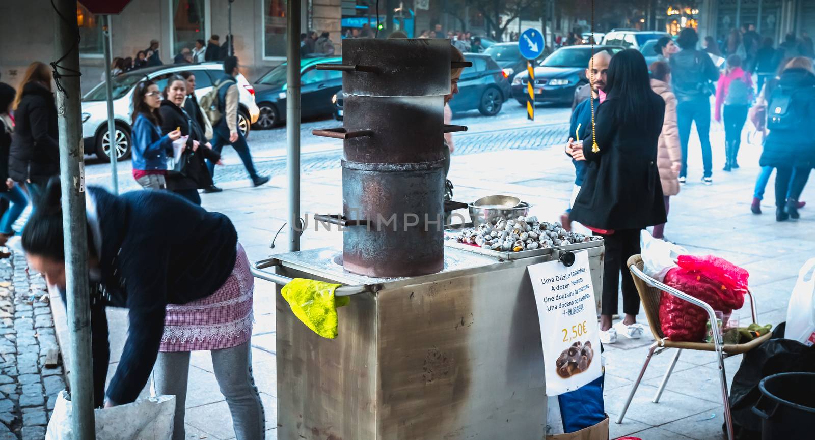
<path fill-rule="evenodd" d="M 250 341 L 210 351 L 215 379 L 221 394 L 227 398 L 232 426 L 237 440 L 266 438 L 266 416 L 258 387 L 252 377 L 252 351 Z M 187 377 L 190 372 L 190 352 L 161 352 L 153 367 L 156 394 L 175 396 L 175 425 L 173 440 L 184 440 L 184 409 L 187 400 Z"/>

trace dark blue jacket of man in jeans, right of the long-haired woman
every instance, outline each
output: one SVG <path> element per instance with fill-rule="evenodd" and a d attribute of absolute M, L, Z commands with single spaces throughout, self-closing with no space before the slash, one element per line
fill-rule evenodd
<path fill-rule="evenodd" d="M 710 55 L 701 50 L 681 50 L 671 56 L 671 85 L 678 102 L 707 99 L 709 81 L 719 79 L 719 69 Z"/>

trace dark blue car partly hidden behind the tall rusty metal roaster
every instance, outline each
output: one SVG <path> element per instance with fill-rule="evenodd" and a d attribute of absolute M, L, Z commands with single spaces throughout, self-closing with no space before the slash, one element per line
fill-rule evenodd
<path fill-rule="evenodd" d="M 487 54 L 464 54 L 473 67 L 461 73 L 459 93 L 450 101 L 453 112 L 478 110 L 482 115 L 494 116 L 501 111 L 512 90 L 504 72 L 494 59 Z M 334 105 L 334 118 L 342 120 L 342 90 L 331 98 Z"/>

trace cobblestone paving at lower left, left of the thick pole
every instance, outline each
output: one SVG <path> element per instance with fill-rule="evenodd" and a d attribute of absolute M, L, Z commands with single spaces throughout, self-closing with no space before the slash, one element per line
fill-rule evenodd
<path fill-rule="evenodd" d="M 25 258 L 0 260 L 0 440 L 39 440 L 65 388 L 63 369 L 46 368 L 59 352 L 45 281 Z"/>

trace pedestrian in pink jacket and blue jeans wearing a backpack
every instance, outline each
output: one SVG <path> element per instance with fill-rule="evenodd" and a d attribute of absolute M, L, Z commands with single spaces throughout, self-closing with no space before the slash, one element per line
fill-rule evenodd
<path fill-rule="evenodd" d="M 753 80 L 742 70 L 742 59 L 736 55 L 727 57 L 727 68 L 716 85 L 716 122 L 722 121 L 722 105 L 725 107 L 725 168 L 738 168 L 738 149 L 742 144 L 742 129 L 747 122 L 747 111 L 755 98 Z"/>

